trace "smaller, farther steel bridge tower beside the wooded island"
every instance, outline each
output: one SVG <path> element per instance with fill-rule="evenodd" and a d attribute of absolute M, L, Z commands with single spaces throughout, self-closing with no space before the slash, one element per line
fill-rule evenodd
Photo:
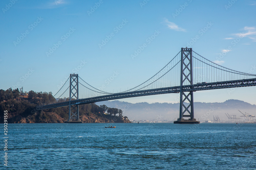
<path fill-rule="evenodd" d="M 78 99 L 78 74 L 70 74 L 69 85 L 69 114 L 66 123 L 82 123 L 79 119 L 79 105 L 71 105 L 72 99 Z M 72 121 L 75 119 L 75 121 Z"/>

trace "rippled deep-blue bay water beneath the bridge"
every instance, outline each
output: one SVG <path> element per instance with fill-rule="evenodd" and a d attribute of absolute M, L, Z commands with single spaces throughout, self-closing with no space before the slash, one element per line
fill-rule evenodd
<path fill-rule="evenodd" d="M 256 169 L 255 130 L 255 124 L 10 124 L 7 169 Z"/>

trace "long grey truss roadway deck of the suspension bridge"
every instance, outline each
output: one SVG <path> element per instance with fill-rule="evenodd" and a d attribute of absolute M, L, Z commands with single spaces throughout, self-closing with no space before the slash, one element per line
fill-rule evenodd
<path fill-rule="evenodd" d="M 254 79 L 243 79 L 243 80 L 233 80 L 233 81 L 224 81 L 224 82 L 185 85 L 185 86 L 182 86 L 182 88 L 183 88 L 183 91 L 186 92 L 186 91 L 212 90 L 212 89 L 248 87 L 248 86 L 256 86 L 256 77 Z M 89 104 L 89 103 L 105 101 L 105 100 L 123 99 L 123 98 L 149 96 L 149 95 L 159 95 L 159 94 L 167 94 L 167 93 L 179 93 L 179 92 L 180 92 L 180 86 L 156 88 L 156 89 L 140 90 L 140 91 L 131 91 L 131 92 L 125 92 L 125 93 L 115 93 L 115 94 L 111 94 L 111 95 L 91 97 L 91 98 L 86 98 L 86 99 L 72 100 L 71 105 Z M 36 109 L 44 110 L 44 109 L 51 109 L 51 108 L 58 108 L 58 107 L 65 107 L 65 106 L 69 106 L 69 101 L 37 106 Z"/>

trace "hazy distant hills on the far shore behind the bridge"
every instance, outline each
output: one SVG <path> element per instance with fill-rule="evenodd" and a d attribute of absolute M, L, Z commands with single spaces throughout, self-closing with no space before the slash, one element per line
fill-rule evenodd
<path fill-rule="evenodd" d="M 105 104 L 108 107 L 122 109 L 123 113 L 130 120 L 150 120 L 163 121 L 174 120 L 179 117 L 179 103 L 129 103 L 121 101 L 102 101 L 97 102 L 97 105 Z M 217 115 L 221 120 L 228 120 L 225 113 L 230 115 L 242 114 L 238 111 L 244 111 L 256 115 L 256 105 L 250 104 L 241 100 L 226 100 L 222 103 L 205 103 L 194 102 L 194 116 L 199 121 L 213 120 L 213 116 Z M 244 119 L 244 117 L 241 117 Z"/>

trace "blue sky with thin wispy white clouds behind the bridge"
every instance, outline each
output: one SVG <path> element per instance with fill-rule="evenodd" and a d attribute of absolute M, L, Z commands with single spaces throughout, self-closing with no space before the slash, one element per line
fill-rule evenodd
<path fill-rule="evenodd" d="M 3 0 L 0 7 L 0 88 L 5 90 L 23 86 L 55 94 L 70 73 L 77 73 L 94 87 L 105 85 L 104 91 L 123 91 L 150 78 L 186 46 L 230 69 L 248 72 L 256 65 L 256 1 Z M 132 58 L 144 43 L 147 47 Z M 194 101 L 256 104 L 255 95 L 255 87 L 209 90 L 194 93 Z M 177 98 L 121 101 L 177 103 Z"/>

